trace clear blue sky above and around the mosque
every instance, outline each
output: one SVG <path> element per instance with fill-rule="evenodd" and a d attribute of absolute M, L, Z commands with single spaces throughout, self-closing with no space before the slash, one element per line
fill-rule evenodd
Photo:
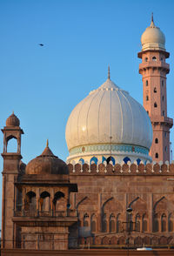
<path fill-rule="evenodd" d="M 24 163 L 43 152 L 47 138 L 66 160 L 70 111 L 104 83 L 108 64 L 111 80 L 143 103 L 137 52 L 152 11 L 171 53 L 167 98 L 174 118 L 173 10 L 173 0 L 0 0 L 0 126 L 12 111 L 20 118 Z"/>

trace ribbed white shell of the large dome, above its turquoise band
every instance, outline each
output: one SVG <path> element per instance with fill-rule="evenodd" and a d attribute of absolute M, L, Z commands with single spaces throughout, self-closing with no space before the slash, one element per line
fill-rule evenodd
<path fill-rule="evenodd" d="M 108 78 L 70 113 L 68 149 L 80 145 L 126 144 L 151 148 L 151 120 L 144 107 Z"/>

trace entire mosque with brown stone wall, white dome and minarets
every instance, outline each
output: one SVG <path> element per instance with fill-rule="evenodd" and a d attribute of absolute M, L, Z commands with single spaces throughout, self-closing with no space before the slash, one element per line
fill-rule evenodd
<path fill-rule="evenodd" d="M 153 17 L 141 44 L 144 106 L 111 81 L 109 68 L 104 84 L 70 113 L 67 164 L 47 142 L 25 165 L 20 121 L 14 113 L 7 118 L 2 255 L 82 255 L 85 248 L 89 255 L 96 255 L 89 249 L 120 255 L 117 250 L 128 246 L 174 246 L 173 120 L 167 117 L 165 62 L 170 54 Z M 8 152 L 11 138 L 17 139 L 17 152 Z"/>

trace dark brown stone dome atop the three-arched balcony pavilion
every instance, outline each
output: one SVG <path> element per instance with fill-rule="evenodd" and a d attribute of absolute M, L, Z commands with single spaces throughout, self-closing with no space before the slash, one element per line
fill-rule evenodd
<path fill-rule="evenodd" d="M 57 158 L 47 144 L 43 153 L 26 166 L 26 174 L 69 174 L 68 165 Z"/>

